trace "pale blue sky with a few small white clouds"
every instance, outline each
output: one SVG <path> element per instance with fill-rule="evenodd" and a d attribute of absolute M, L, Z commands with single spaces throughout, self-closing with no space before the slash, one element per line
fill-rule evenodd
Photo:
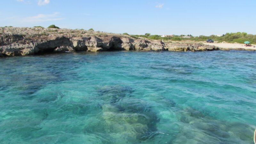
<path fill-rule="evenodd" d="M 152 35 L 256 34 L 256 0 L 0 0 L 0 26 Z"/>

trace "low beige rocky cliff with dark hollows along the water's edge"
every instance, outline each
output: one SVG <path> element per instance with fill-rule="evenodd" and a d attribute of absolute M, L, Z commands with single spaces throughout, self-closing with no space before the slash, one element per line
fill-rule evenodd
<path fill-rule="evenodd" d="M 199 43 L 174 43 L 83 29 L 0 27 L 0 57 L 75 51 L 214 51 Z M 232 49 L 233 50 L 233 49 Z M 242 49 L 239 49 L 242 50 Z"/>

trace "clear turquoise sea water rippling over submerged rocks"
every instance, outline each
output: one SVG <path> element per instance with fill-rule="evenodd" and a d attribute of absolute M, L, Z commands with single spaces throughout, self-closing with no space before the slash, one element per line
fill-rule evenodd
<path fill-rule="evenodd" d="M 253 143 L 256 52 L 0 59 L 0 143 Z"/>

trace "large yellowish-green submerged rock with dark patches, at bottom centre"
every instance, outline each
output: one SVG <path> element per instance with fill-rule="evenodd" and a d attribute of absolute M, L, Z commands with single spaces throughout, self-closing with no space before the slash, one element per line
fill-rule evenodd
<path fill-rule="evenodd" d="M 159 119 L 156 112 L 147 103 L 133 98 L 134 90 L 131 87 L 105 86 L 98 92 L 99 98 L 104 101 L 100 131 L 108 133 L 108 138 L 138 142 L 157 134 Z M 85 129 L 86 133 L 95 132 Z"/>

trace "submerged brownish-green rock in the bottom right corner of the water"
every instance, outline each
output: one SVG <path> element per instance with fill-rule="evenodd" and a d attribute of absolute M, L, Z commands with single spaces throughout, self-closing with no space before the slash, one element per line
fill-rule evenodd
<path fill-rule="evenodd" d="M 223 144 L 243 143 L 252 137 L 253 128 L 247 124 L 216 120 L 214 117 L 205 115 L 193 108 L 185 108 L 179 112 L 182 112 L 180 121 L 184 126 L 181 133 L 172 141 L 174 143 L 181 138 L 193 139 L 195 133 L 198 134 L 197 138 L 201 137 L 203 141 L 216 141 L 218 139 Z M 191 132 L 191 130 L 193 131 Z"/>

